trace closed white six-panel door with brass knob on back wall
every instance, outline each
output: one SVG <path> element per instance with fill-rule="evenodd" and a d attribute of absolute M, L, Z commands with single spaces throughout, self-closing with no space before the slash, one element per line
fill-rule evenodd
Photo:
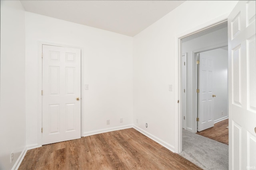
<path fill-rule="evenodd" d="M 81 137 L 81 50 L 42 46 L 42 145 Z"/>

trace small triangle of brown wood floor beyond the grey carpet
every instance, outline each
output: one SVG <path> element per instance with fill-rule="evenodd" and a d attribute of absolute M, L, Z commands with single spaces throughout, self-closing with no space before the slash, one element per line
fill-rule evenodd
<path fill-rule="evenodd" d="M 226 128 L 227 126 L 228 119 L 215 123 L 214 127 L 197 132 L 197 134 L 228 145 L 228 128 Z"/>

